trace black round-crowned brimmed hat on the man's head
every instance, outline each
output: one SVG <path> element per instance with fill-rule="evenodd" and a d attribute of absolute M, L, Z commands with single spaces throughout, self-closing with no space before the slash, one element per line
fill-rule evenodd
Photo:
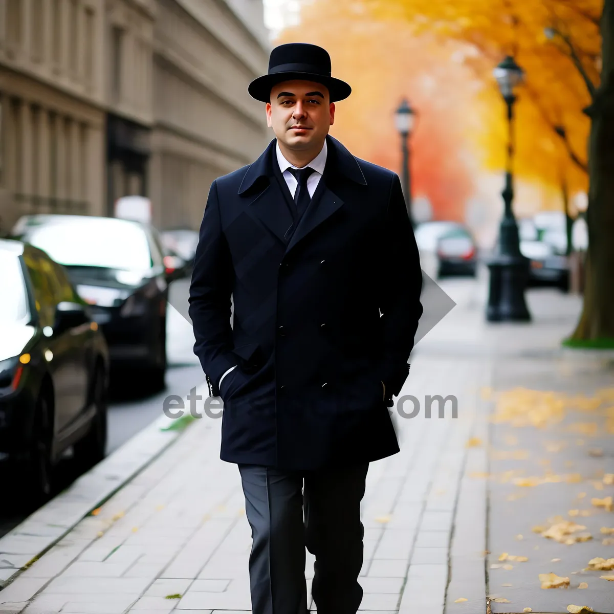
<path fill-rule="evenodd" d="M 352 88 L 346 82 L 331 76 L 327 50 L 304 42 L 290 42 L 275 47 L 269 58 L 268 74 L 254 79 L 247 91 L 252 98 L 268 103 L 274 85 L 295 79 L 325 85 L 332 103 L 348 98 L 352 93 Z"/>

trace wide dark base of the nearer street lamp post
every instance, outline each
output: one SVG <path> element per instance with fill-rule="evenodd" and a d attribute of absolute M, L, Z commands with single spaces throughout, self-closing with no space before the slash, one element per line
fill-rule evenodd
<path fill-rule="evenodd" d="M 499 254 L 488 262 L 491 273 L 486 319 L 489 322 L 530 322 L 524 300 L 529 279 L 529 259 Z"/>

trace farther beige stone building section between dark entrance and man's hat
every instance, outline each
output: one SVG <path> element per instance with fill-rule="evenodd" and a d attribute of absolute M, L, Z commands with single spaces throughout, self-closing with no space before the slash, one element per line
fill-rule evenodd
<path fill-rule="evenodd" d="M 264 105 L 247 95 L 268 68 L 262 1 L 243 2 L 158 2 L 150 198 L 160 228 L 198 228 L 211 182 L 271 138 Z"/>

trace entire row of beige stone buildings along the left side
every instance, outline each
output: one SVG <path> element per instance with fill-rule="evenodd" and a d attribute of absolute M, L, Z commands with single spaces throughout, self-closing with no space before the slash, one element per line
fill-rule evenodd
<path fill-rule="evenodd" d="M 262 0 L 0 0 L 0 233 L 128 194 L 198 227 L 268 142 L 247 96 L 267 58 Z"/>

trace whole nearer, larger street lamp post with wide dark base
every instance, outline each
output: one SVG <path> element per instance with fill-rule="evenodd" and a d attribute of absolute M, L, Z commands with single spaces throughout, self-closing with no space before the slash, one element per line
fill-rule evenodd
<path fill-rule="evenodd" d="M 512 211 L 514 198 L 512 160 L 514 155 L 514 91 L 523 78 L 523 70 L 508 56 L 494 70 L 495 79 L 507 105 L 508 146 L 503 203 L 505 209 L 499 226 L 499 240 L 494 257 L 488 262 L 490 287 L 486 319 L 491 322 L 530 321 L 524 300 L 529 277 L 529 259 L 520 251 L 518 223 Z"/>

